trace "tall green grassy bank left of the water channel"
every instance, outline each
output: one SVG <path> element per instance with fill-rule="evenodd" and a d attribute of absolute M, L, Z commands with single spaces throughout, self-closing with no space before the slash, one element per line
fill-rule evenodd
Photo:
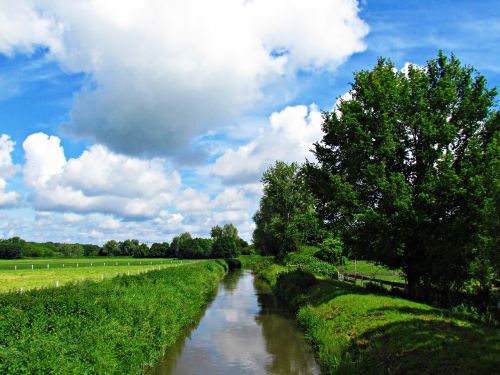
<path fill-rule="evenodd" d="M 224 274 L 216 261 L 0 295 L 0 373 L 143 372 Z"/>

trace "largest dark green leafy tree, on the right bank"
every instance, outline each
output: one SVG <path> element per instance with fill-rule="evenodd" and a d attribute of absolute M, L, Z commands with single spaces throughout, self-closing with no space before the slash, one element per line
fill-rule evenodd
<path fill-rule="evenodd" d="M 496 90 L 440 52 L 405 71 L 379 59 L 350 94 L 324 114 L 307 165 L 318 212 L 351 252 L 402 268 L 411 292 L 458 289 L 498 230 L 483 220 L 498 215 Z"/>

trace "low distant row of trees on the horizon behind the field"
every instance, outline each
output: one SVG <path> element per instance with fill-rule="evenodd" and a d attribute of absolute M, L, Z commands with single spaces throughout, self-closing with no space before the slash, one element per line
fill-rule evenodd
<path fill-rule="evenodd" d="M 190 233 L 175 236 L 171 243 L 153 243 L 148 246 L 136 239 L 110 240 L 103 246 L 93 244 L 67 244 L 57 242 L 29 242 L 19 237 L 0 240 L 0 258 L 23 257 L 84 257 L 132 256 L 134 258 L 232 258 L 251 254 L 253 248 L 238 236 L 232 224 L 215 226 L 211 238 L 193 238 Z"/>

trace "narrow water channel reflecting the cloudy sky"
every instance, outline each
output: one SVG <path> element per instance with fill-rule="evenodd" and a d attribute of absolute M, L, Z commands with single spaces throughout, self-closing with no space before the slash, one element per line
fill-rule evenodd
<path fill-rule="evenodd" d="M 197 327 L 153 374 L 319 374 L 292 316 L 251 271 L 228 273 Z"/>

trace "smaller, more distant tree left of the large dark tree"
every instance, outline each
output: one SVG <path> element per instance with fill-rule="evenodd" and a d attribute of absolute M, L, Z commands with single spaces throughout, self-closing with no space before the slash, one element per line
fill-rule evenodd
<path fill-rule="evenodd" d="M 284 256 L 299 244 L 317 243 L 323 233 L 299 165 L 278 161 L 261 181 L 264 193 L 253 218 L 256 249 L 263 255 Z"/>

